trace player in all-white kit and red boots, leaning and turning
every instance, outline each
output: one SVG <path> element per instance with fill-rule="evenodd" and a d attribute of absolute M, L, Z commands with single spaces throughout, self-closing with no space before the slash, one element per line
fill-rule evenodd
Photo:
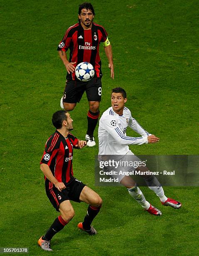
<path fill-rule="evenodd" d="M 100 118 L 98 138 L 99 138 L 99 157 L 107 155 L 117 155 L 122 156 L 125 160 L 127 155 L 132 155 L 134 159 L 138 159 L 137 156 L 130 151 L 128 145 L 141 145 L 144 143 L 157 143 L 159 138 L 145 131 L 142 126 L 137 123 L 137 121 L 132 118 L 131 112 L 128 108 L 124 106 L 127 102 L 127 95 L 124 89 L 117 87 L 112 89 L 111 94 L 111 105 L 112 107 L 108 108 Z M 130 127 L 132 130 L 136 131 L 141 137 L 129 137 L 126 135 L 127 127 Z M 139 159 L 140 160 L 140 159 Z M 143 167 L 133 168 L 140 170 Z M 146 167 L 145 167 L 146 168 Z M 109 170 L 109 167 L 104 167 L 104 170 Z M 124 170 L 126 170 L 124 168 Z M 128 169 L 130 171 L 130 169 Z M 119 178 L 119 183 L 127 187 L 129 194 L 137 200 L 137 202 L 149 213 L 154 215 L 162 215 L 162 212 L 152 206 L 145 199 L 142 191 L 137 187 L 136 182 L 129 176 L 125 175 L 112 175 L 112 177 Z M 145 182 L 147 183 L 149 189 L 154 191 L 159 197 L 162 205 L 171 206 L 175 209 L 180 208 L 182 204 L 172 198 L 166 197 L 164 195 L 164 190 L 154 176 L 144 177 Z"/>

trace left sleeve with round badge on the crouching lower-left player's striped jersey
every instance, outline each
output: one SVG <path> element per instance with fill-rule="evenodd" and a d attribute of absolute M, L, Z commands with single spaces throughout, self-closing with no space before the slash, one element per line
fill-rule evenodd
<path fill-rule="evenodd" d="M 60 148 L 59 136 L 58 133 L 55 133 L 54 136 L 50 136 L 47 140 L 40 164 L 47 164 L 50 166 L 52 159 L 56 156 Z"/>

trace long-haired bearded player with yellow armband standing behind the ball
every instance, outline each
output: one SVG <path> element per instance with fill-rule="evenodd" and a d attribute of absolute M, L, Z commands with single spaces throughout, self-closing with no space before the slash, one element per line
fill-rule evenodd
<path fill-rule="evenodd" d="M 79 6 L 78 14 L 79 22 L 67 29 L 57 48 L 67 69 L 66 87 L 60 105 L 67 111 L 73 110 L 86 91 L 87 100 L 89 101 L 86 141 L 87 146 L 95 146 L 93 132 L 100 116 L 99 108 L 102 95 L 99 46 L 100 43 L 104 46 L 111 77 L 114 78 L 112 47 L 106 30 L 93 22 L 95 11 L 91 3 L 82 3 Z M 70 49 L 69 60 L 66 55 L 68 49 Z M 75 67 L 84 61 L 91 63 L 95 68 L 95 76 L 89 82 L 81 82 L 75 77 Z"/>

